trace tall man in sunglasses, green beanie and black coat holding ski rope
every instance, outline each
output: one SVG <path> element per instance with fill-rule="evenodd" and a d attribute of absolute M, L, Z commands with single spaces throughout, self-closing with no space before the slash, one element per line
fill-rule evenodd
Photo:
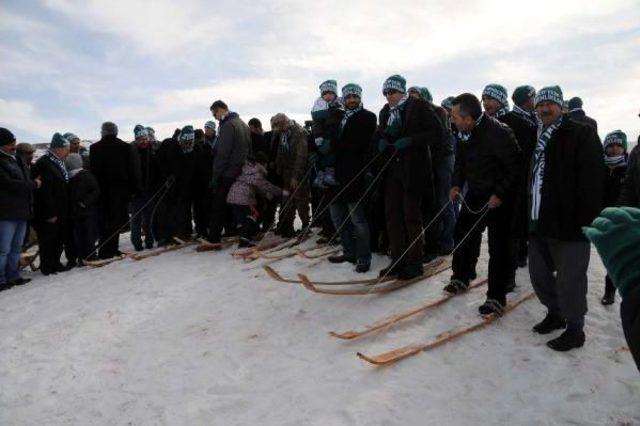
<path fill-rule="evenodd" d="M 406 80 L 389 77 L 383 85 L 387 104 L 380 111 L 375 141 L 385 154 L 385 214 L 391 264 L 382 276 L 408 280 L 422 275 L 422 202 L 435 203 L 429 146 L 442 140 L 443 128 L 433 107 L 406 96 Z M 425 185 L 428 190 L 425 190 Z"/>

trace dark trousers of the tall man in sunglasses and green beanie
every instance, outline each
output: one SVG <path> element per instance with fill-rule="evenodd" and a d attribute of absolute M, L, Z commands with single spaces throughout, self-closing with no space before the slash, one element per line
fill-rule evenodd
<path fill-rule="evenodd" d="M 400 260 L 398 265 L 406 267 L 421 266 L 423 194 L 409 193 L 402 181 L 400 165 L 393 164 L 386 178 L 384 195 L 391 261 Z"/>

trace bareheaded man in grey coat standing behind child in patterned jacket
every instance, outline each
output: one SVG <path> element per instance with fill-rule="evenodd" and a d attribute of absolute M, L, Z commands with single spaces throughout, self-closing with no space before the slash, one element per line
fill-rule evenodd
<path fill-rule="evenodd" d="M 251 154 L 251 131 L 238 114 L 229 111 L 224 102 L 215 101 L 209 109 L 219 122 L 218 136 L 213 143 L 213 201 L 209 241 L 219 243 L 223 227 L 226 235 L 236 233 L 226 200 L 231 185 L 242 172 L 242 166 Z"/>

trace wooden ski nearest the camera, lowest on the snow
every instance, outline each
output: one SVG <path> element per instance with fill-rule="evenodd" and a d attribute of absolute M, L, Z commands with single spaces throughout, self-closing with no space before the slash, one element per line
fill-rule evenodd
<path fill-rule="evenodd" d="M 531 299 L 533 296 L 534 296 L 534 293 L 532 292 L 524 296 L 517 302 L 507 304 L 507 306 L 504 309 L 503 315 L 506 315 L 507 313 L 511 312 L 517 306 Z M 483 317 L 480 321 L 476 322 L 475 324 L 472 324 L 460 329 L 452 329 L 449 331 L 445 331 L 444 333 L 441 333 L 438 336 L 436 336 L 434 340 L 427 343 L 407 345 L 407 346 L 403 346 L 398 349 L 393 349 L 391 351 L 384 352 L 378 355 L 365 355 L 362 352 L 358 352 L 357 355 L 360 359 L 363 359 L 374 365 L 393 364 L 394 362 L 408 358 L 412 355 L 416 355 L 420 352 L 425 352 L 425 351 L 437 348 L 438 346 L 442 346 L 447 342 L 451 342 L 452 340 L 455 340 L 464 336 L 465 334 L 471 333 L 476 330 L 480 330 L 481 328 L 484 328 L 489 324 L 492 324 L 498 318 L 499 317 L 496 315 L 487 315 Z"/>

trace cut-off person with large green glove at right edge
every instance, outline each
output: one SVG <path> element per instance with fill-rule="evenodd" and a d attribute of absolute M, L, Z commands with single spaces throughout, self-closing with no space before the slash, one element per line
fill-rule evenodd
<path fill-rule="evenodd" d="M 622 329 L 640 370 L 640 209 L 606 208 L 583 230 L 620 291 Z"/>

